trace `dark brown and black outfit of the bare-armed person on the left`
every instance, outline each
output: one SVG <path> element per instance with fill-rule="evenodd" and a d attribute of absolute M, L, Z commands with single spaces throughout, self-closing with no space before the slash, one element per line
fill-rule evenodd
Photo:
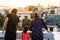
<path fill-rule="evenodd" d="M 19 22 L 19 17 L 14 13 L 8 14 L 7 17 L 9 20 L 4 40 L 16 40 L 16 26 Z"/>

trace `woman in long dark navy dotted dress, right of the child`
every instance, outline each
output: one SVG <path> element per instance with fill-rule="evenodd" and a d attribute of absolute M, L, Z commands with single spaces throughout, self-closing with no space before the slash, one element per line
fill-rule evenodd
<path fill-rule="evenodd" d="M 32 20 L 30 24 L 30 30 L 32 31 L 32 40 L 43 40 L 42 26 L 44 26 L 47 30 L 47 26 L 45 25 L 43 19 L 39 18 L 37 13 L 34 13 L 34 20 Z"/>

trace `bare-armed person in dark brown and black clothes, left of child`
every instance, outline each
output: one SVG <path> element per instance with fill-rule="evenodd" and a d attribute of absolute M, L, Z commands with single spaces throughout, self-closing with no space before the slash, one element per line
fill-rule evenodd
<path fill-rule="evenodd" d="M 16 30 L 19 24 L 19 17 L 16 14 L 17 9 L 13 9 L 5 18 L 2 29 L 2 32 L 6 29 L 4 40 L 16 40 Z"/>

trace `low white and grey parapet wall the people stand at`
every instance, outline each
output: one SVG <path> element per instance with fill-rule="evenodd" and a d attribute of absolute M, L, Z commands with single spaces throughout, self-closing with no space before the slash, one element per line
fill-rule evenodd
<path fill-rule="evenodd" d="M 22 31 L 17 31 L 16 33 L 17 33 L 17 39 L 21 39 Z M 31 31 L 28 31 L 28 33 L 31 33 Z M 60 34 L 60 32 L 43 32 L 44 40 L 55 40 L 55 37 L 54 37 L 54 36 L 56 36 L 55 33 Z M 2 33 L 2 31 L 0 31 L 0 38 L 4 38 L 4 35 L 5 35 L 5 32 Z M 58 35 L 57 35 L 57 37 L 58 37 Z"/>

